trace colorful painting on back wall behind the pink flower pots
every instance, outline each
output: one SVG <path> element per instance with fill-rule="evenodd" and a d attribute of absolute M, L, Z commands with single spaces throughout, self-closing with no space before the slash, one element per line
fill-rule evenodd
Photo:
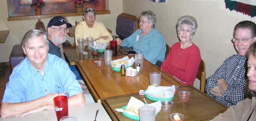
<path fill-rule="evenodd" d="M 75 12 L 73 0 L 44 0 L 42 14 L 72 13 Z M 35 15 L 30 7 L 31 0 L 7 0 L 9 17 Z M 106 0 L 86 0 L 84 8 L 93 7 L 96 11 L 106 10 Z"/>

